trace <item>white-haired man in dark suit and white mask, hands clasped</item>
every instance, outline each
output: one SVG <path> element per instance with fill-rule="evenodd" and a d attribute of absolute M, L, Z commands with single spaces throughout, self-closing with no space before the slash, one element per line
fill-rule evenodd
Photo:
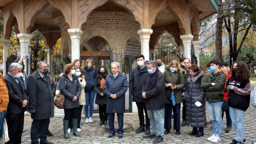
<path fill-rule="evenodd" d="M 12 63 L 9 72 L 4 77 L 8 89 L 9 103 L 7 106 L 6 122 L 8 125 L 9 141 L 6 144 L 20 144 L 23 132 L 24 112 L 27 105 L 27 93 L 21 80 L 23 66 Z"/>

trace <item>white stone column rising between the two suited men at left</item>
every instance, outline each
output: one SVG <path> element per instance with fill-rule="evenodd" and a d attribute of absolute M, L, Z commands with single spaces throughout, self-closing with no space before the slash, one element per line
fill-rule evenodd
<path fill-rule="evenodd" d="M 22 57 L 24 54 L 28 55 L 28 46 L 30 45 L 30 39 L 32 38 L 32 35 L 27 33 L 19 33 L 17 34 L 17 38 L 20 40 L 20 57 Z M 25 64 L 24 71 L 30 73 L 27 70 L 27 59 L 23 60 L 23 63 Z"/>

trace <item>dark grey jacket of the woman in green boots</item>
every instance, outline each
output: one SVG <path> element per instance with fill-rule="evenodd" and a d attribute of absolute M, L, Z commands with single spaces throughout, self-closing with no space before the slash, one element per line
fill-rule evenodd
<path fill-rule="evenodd" d="M 81 95 L 81 84 L 79 83 L 78 77 L 75 74 L 72 75 L 72 80 L 69 79 L 66 73 L 60 77 L 59 91 L 65 96 L 64 109 L 71 109 L 80 106 L 79 97 Z M 74 96 L 77 97 L 75 102 L 72 101 Z"/>

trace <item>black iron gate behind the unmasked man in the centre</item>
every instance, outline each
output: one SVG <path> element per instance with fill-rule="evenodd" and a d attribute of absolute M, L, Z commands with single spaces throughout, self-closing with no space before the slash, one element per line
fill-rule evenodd
<path fill-rule="evenodd" d="M 123 74 L 126 74 L 128 79 L 128 90 L 125 94 L 125 111 L 126 112 L 132 112 L 132 94 L 129 90 L 129 79 L 130 74 L 132 73 L 133 68 L 137 67 L 136 64 L 136 58 L 132 54 L 130 55 L 124 55 L 122 51 L 115 51 L 110 53 L 99 53 L 96 56 L 90 57 L 94 63 L 94 66 L 96 68 L 96 71 L 98 71 L 98 68 L 101 66 L 104 66 L 108 73 L 111 73 L 111 63 L 116 61 L 120 64 L 120 72 Z M 98 105 L 94 106 L 94 110 L 98 111 Z"/>

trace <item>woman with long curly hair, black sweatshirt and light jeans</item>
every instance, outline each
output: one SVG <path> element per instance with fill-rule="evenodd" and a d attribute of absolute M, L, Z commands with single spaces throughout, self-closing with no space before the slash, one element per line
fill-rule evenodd
<path fill-rule="evenodd" d="M 244 113 L 250 105 L 250 72 L 247 64 L 237 60 L 232 65 L 232 76 L 226 83 L 226 91 L 229 92 L 229 113 L 236 131 L 236 138 L 231 144 L 245 142 Z"/>

